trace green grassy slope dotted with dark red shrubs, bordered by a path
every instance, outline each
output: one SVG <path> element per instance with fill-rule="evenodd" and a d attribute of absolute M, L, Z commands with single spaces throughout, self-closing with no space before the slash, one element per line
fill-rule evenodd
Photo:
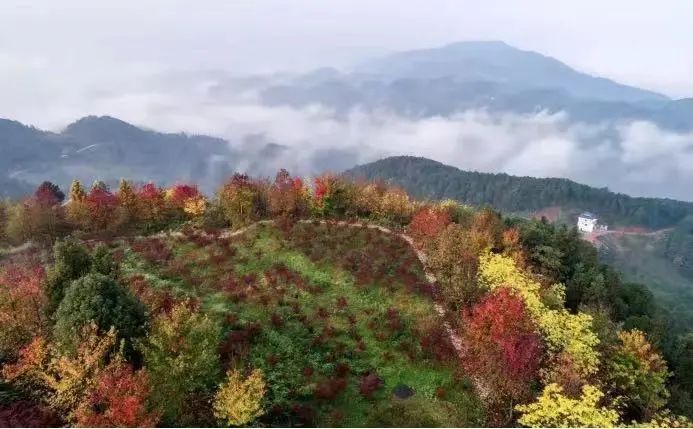
<path fill-rule="evenodd" d="M 225 366 L 261 368 L 265 424 L 364 426 L 398 385 L 483 413 L 458 373 L 423 268 L 400 238 L 366 228 L 263 225 L 232 239 L 121 244 L 122 269 L 152 311 L 193 299 L 224 325 Z"/>

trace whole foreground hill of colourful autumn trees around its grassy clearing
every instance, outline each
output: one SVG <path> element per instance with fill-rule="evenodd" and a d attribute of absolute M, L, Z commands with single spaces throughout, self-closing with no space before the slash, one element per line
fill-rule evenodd
<path fill-rule="evenodd" d="M 285 170 L 0 206 L 0 426 L 686 427 L 691 392 L 693 334 L 545 219 Z"/>

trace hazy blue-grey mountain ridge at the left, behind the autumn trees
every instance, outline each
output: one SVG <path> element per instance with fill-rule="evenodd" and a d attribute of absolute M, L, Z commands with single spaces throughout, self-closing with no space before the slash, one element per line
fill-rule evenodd
<path fill-rule="evenodd" d="M 114 183 L 120 177 L 168 183 L 218 183 L 228 171 L 216 159 L 236 152 L 223 139 L 159 133 L 116 118 L 89 116 L 54 133 L 0 119 L 2 195 L 24 195 L 30 185 L 51 180 L 62 187 L 73 178 Z"/>

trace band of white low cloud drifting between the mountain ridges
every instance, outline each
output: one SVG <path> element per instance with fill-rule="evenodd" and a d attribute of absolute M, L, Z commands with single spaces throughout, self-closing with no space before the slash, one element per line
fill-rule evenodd
<path fill-rule="evenodd" d="M 67 118 L 99 114 L 160 131 L 219 136 L 243 154 L 229 165 L 250 173 L 287 167 L 314 174 L 416 155 L 466 170 L 565 177 L 632 195 L 693 200 L 693 133 L 649 122 L 585 124 L 563 113 L 483 110 L 428 118 L 360 109 L 336 114 L 320 105 L 266 106 L 251 91 L 220 101 L 209 96 L 213 81 L 150 83 L 55 97 L 55 103 L 32 111 L 29 123 L 57 129 Z"/>

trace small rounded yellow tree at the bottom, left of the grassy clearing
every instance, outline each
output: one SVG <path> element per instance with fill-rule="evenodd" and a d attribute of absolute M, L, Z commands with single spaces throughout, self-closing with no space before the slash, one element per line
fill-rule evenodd
<path fill-rule="evenodd" d="M 245 426 L 262 415 L 265 395 L 262 371 L 253 370 L 247 378 L 230 370 L 214 397 L 214 415 L 232 426 Z"/>

